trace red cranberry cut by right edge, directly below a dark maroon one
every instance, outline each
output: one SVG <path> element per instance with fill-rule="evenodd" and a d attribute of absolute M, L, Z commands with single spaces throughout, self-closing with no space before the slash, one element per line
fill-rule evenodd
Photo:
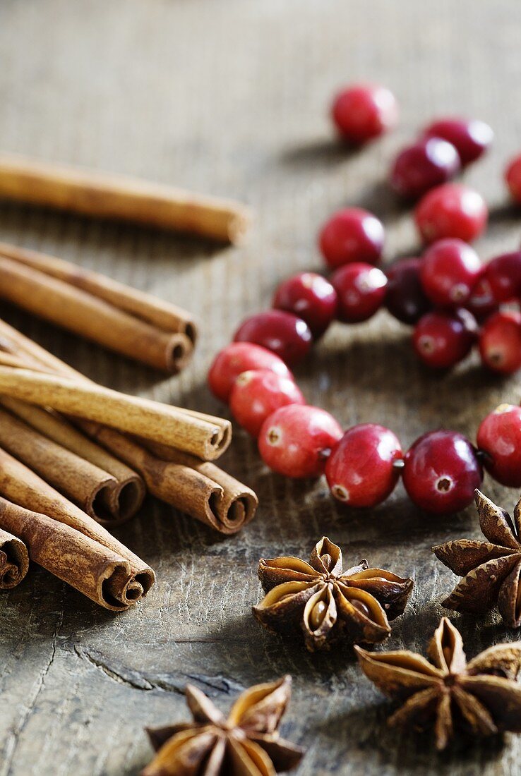
<path fill-rule="evenodd" d="M 504 311 L 487 320 L 479 335 L 484 364 L 509 375 L 521 368 L 521 313 Z"/>

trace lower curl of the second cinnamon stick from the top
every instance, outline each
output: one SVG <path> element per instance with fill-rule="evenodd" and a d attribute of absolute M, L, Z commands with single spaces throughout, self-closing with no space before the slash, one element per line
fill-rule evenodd
<path fill-rule="evenodd" d="M 2 251 L 0 297 L 155 369 L 179 372 L 193 353 L 193 339 L 182 331 L 164 331 Z"/>

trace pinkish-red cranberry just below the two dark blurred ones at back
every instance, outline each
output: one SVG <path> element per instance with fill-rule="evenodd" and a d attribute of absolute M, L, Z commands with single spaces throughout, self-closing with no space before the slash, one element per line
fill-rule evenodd
<path fill-rule="evenodd" d="M 415 221 L 425 242 L 459 237 L 472 242 L 485 231 L 488 208 L 485 199 L 462 183 L 443 183 L 422 196 Z"/>

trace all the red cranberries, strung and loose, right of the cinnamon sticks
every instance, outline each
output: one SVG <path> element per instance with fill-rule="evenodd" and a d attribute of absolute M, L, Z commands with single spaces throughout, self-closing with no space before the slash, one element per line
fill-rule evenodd
<path fill-rule="evenodd" d="M 337 96 L 332 116 L 342 137 L 363 144 L 394 126 L 398 107 L 383 87 L 355 86 Z M 343 432 L 331 414 L 305 403 L 289 369 L 332 320 L 357 323 L 383 306 L 414 325 L 415 352 L 433 367 L 456 364 L 476 343 L 491 369 L 521 367 L 521 313 L 502 307 L 521 299 L 521 251 L 481 265 L 468 243 L 485 229 L 487 206 L 478 192 L 449 182 L 491 139 L 485 123 L 443 119 L 395 159 L 391 187 L 421 197 L 415 223 L 427 244 L 422 258 L 399 259 L 383 272 L 377 266 L 383 224 L 366 210 L 340 210 L 319 237 L 330 279 L 301 272 L 281 283 L 273 309 L 245 320 L 214 359 L 210 389 L 258 438 L 273 471 L 296 478 L 325 473 L 332 495 L 353 507 L 384 501 L 401 476 L 412 501 L 434 514 L 470 504 L 483 467 L 499 483 L 521 487 L 521 407 L 502 404 L 485 417 L 476 447 L 455 431 L 439 430 L 404 454 L 394 433 L 379 424 Z M 521 202 L 521 157 L 506 178 Z"/>

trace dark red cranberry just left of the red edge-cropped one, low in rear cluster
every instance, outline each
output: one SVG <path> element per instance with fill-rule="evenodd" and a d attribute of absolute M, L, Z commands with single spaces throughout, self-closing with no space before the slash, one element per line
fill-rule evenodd
<path fill-rule="evenodd" d="M 471 352 L 476 331 L 476 321 L 467 310 L 435 310 L 420 318 L 412 344 L 422 362 L 435 369 L 448 369 Z"/>

